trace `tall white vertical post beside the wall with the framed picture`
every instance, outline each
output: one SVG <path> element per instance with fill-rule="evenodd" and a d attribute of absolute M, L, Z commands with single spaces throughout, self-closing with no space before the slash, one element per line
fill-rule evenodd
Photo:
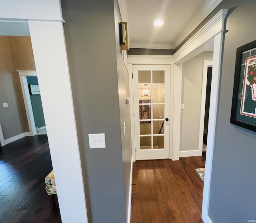
<path fill-rule="evenodd" d="M 222 28 L 223 29 L 223 28 Z M 212 159 L 215 142 L 215 130 L 217 124 L 217 110 L 218 110 L 218 95 L 220 84 L 221 60 L 222 60 L 222 45 L 224 32 L 220 32 L 214 37 L 214 52 L 213 52 L 213 66 L 212 66 L 212 84 L 210 95 L 210 112 L 208 122 L 208 137 L 207 137 L 207 152 L 204 175 L 204 193 L 202 205 L 202 219 L 206 222 L 209 209 L 210 197 L 210 183 L 212 175 Z"/>

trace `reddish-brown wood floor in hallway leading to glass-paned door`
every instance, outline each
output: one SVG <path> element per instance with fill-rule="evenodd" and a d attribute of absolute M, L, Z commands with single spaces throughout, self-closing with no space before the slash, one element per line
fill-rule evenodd
<path fill-rule="evenodd" d="M 131 223 L 198 223 L 203 182 L 195 168 L 204 156 L 133 163 Z"/>

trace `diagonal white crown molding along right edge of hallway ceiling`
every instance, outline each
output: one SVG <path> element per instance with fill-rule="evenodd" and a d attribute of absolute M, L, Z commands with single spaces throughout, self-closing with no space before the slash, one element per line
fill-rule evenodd
<path fill-rule="evenodd" d="M 198 10 L 198 13 L 194 18 L 190 21 L 190 23 L 186 26 L 186 28 L 180 33 L 178 38 L 174 41 L 175 47 L 180 45 L 188 35 L 193 32 L 193 30 L 220 4 L 222 0 L 211 0 L 206 1 L 202 8 Z"/>

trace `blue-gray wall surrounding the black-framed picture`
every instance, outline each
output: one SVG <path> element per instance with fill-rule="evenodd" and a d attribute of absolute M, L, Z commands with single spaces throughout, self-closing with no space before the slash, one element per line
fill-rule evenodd
<path fill-rule="evenodd" d="M 228 16 L 210 187 L 213 223 L 256 220 L 256 133 L 230 124 L 236 48 L 256 39 L 255 0 L 223 0 Z"/>

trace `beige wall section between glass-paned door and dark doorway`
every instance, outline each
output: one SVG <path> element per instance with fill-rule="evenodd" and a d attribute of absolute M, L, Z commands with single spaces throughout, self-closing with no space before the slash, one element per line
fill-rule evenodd
<path fill-rule="evenodd" d="M 182 65 L 180 117 L 180 151 L 198 150 L 202 97 L 203 61 L 212 60 L 213 52 L 205 51 Z"/>

